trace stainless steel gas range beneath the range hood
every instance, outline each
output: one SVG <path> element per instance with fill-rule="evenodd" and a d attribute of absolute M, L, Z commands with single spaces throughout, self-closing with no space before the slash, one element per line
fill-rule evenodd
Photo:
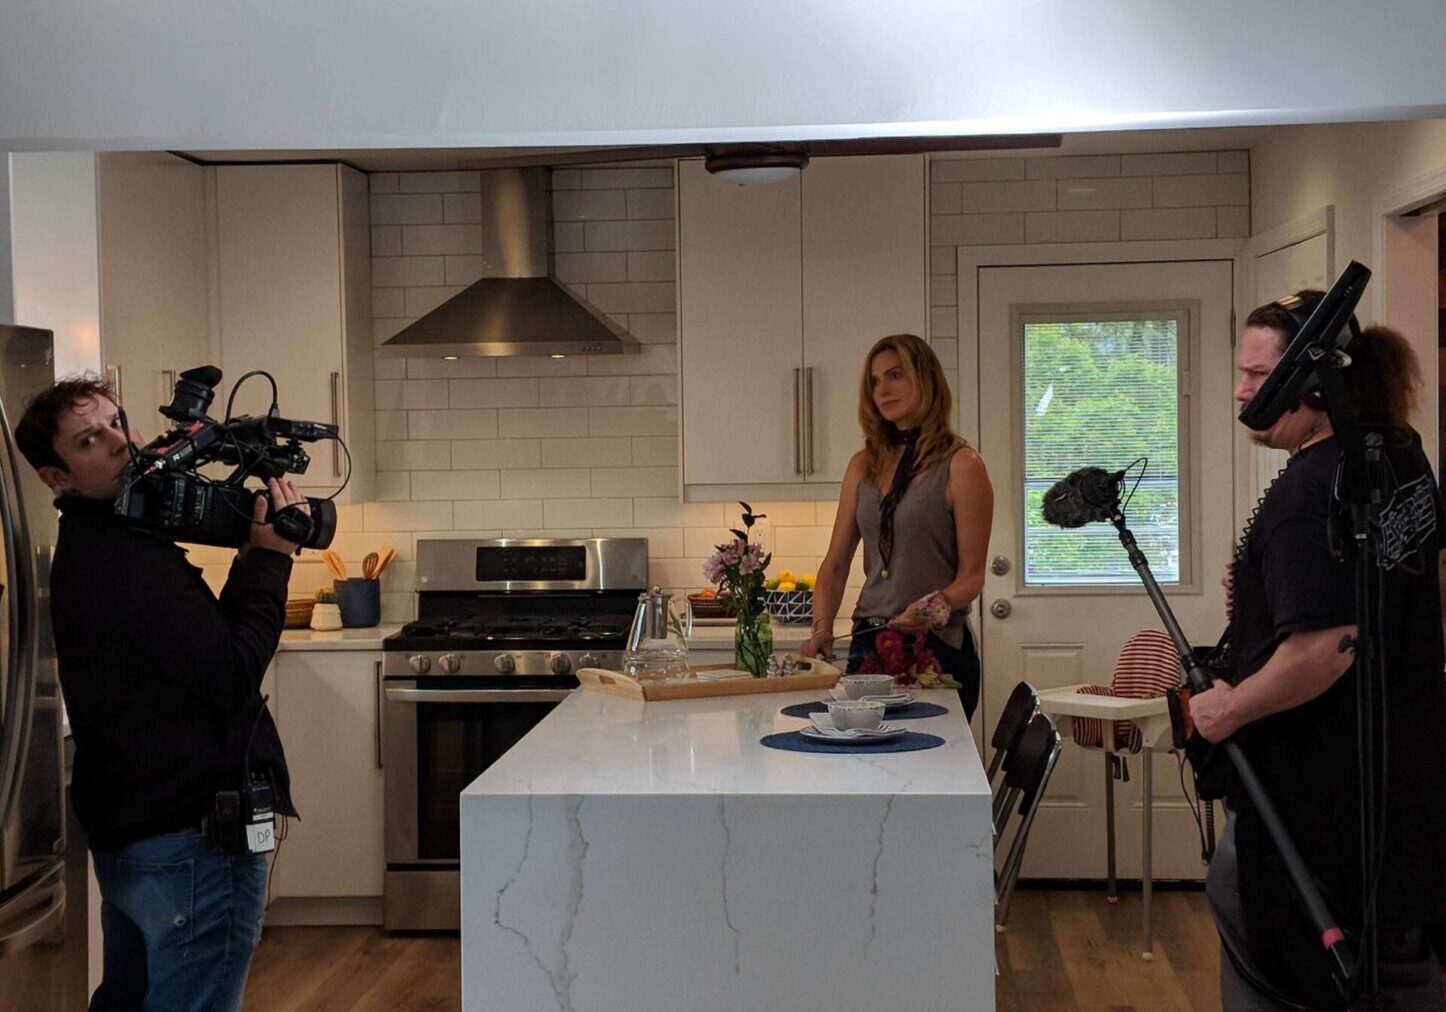
<path fill-rule="evenodd" d="M 461 792 L 622 666 L 646 586 L 642 538 L 416 542 L 416 622 L 382 642 L 385 927 L 458 927 Z"/>

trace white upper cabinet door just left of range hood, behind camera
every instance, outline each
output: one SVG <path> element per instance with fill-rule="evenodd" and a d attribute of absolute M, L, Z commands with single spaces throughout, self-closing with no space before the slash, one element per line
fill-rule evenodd
<path fill-rule="evenodd" d="M 335 165 L 231 165 L 217 169 L 215 221 L 221 369 L 213 415 L 231 386 L 265 369 L 276 377 L 282 416 L 340 421 L 343 295 L 340 192 Z M 270 406 L 265 377 L 246 380 L 233 412 Z M 296 484 L 335 487 L 331 447 Z"/>

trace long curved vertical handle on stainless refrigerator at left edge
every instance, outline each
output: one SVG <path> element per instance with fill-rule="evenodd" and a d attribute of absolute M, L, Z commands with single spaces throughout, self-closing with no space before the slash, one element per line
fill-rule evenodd
<path fill-rule="evenodd" d="M 17 477 L 10 419 L 0 406 L 0 519 L 4 523 L 0 536 L 4 539 L 4 578 L 9 581 L 0 606 L 10 612 L 4 720 L 0 723 L 0 746 L 4 749 L 0 756 L 0 826 L 12 824 L 20 798 L 35 720 L 36 588 Z"/>

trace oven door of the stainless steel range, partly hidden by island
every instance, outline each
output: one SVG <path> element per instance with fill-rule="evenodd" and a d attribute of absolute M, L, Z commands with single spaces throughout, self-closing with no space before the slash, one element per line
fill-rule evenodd
<path fill-rule="evenodd" d="M 388 866 L 457 867 L 463 788 L 576 691 L 497 688 L 496 679 L 486 681 L 486 687 L 464 678 L 386 681 Z"/>

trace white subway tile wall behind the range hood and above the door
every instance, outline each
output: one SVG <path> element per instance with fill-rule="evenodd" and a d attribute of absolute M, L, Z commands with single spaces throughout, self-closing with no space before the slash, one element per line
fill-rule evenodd
<path fill-rule="evenodd" d="M 373 340 L 482 276 L 477 172 L 377 172 L 372 188 Z M 737 522 L 729 503 L 678 502 L 675 195 L 671 166 L 552 173 L 557 276 L 642 346 L 564 360 L 377 359 L 377 500 L 340 509 L 333 544 L 354 574 L 398 548 L 383 619 L 412 616 L 419 538 L 648 538 L 651 578 L 703 586 L 703 559 Z M 936 158 L 930 166 L 930 338 L 957 370 L 954 247 L 1244 236 L 1245 152 Z M 774 567 L 814 571 L 834 503 L 753 503 Z M 202 554 L 213 583 L 226 554 Z M 328 584 L 304 552 L 294 594 Z M 862 583 L 850 574 L 846 614 Z"/>

